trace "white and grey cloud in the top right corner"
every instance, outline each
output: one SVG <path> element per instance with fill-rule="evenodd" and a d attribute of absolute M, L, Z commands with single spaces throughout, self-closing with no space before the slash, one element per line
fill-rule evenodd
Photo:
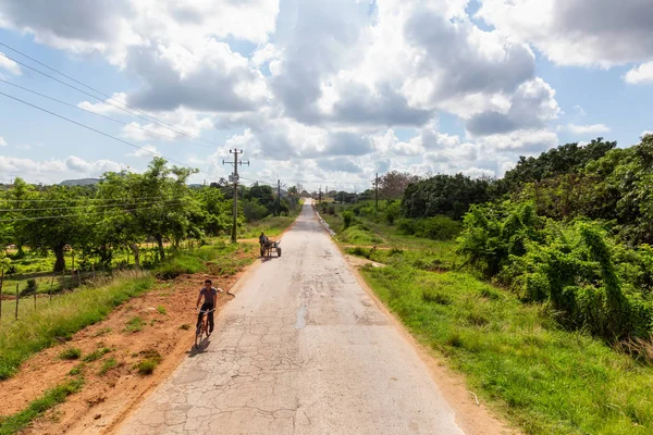
<path fill-rule="evenodd" d="M 612 66 L 653 57 L 646 0 L 481 0 L 477 16 L 560 65 Z"/>

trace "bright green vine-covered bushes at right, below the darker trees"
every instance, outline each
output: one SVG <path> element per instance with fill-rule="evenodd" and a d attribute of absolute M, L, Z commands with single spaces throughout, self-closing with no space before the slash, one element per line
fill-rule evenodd
<path fill-rule="evenodd" d="M 556 320 L 607 340 L 648 338 L 653 289 L 648 247 L 627 250 L 597 224 L 545 221 L 530 203 L 477 206 L 465 217 L 459 252 Z"/>

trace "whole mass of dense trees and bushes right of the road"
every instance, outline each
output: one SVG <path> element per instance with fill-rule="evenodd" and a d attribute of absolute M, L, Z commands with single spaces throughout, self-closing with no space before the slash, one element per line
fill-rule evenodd
<path fill-rule="evenodd" d="M 625 149 L 602 138 L 567 144 L 520 158 L 501 179 L 391 173 L 380 185 L 378 209 L 374 201 L 347 208 L 341 240 L 383 243 L 367 232 L 371 222 L 457 239 L 459 265 L 543 303 L 564 327 L 628 344 L 638 357 L 651 351 L 653 136 Z"/>

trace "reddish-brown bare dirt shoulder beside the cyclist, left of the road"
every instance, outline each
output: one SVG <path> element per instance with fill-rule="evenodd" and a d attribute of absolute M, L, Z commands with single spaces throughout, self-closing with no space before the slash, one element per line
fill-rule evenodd
<path fill-rule="evenodd" d="M 71 378 L 71 370 L 81 366 L 85 377 L 83 389 L 49 410 L 23 433 L 100 434 L 111 431 L 183 359 L 201 352 L 201 348 L 194 349 L 193 326 L 197 315 L 195 302 L 204 279 L 210 277 L 214 286 L 231 289 L 243 273 L 252 268 L 256 264 L 233 276 L 194 274 L 157 283 L 152 290 L 116 308 L 104 321 L 78 332 L 70 341 L 29 358 L 14 377 L 0 383 L 0 414 L 10 415 L 25 409 L 45 390 Z M 234 291 L 237 294 L 236 289 Z M 218 311 L 234 298 L 220 295 Z M 59 355 L 65 348 L 79 348 L 82 359 L 60 359 Z M 96 361 L 82 361 L 85 356 L 101 349 L 109 351 Z M 161 361 L 153 373 L 139 374 L 135 364 L 157 353 Z M 115 366 L 101 373 L 102 368 L 113 364 Z"/>

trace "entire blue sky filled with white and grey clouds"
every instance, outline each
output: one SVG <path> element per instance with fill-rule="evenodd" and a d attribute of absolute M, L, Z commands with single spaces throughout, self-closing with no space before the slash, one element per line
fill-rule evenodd
<path fill-rule="evenodd" d="M 155 154 L 210 183 L 243 149 L 243 183 L 362 190 L 628 147 L 653 130 L 651 23 L 650 0 L 0 0 L 0 183 Z"/>

